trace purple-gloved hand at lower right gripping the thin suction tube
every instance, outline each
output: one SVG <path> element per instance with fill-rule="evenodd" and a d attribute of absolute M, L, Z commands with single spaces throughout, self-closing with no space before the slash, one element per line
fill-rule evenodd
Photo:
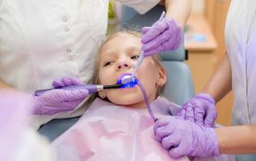
<path fill-rule="evenodd" d="M 181 118 L 159 118 L 153 131 L 162 147 L 175 159 L 189 157 L 208 157 L 220 155 L 214 129 L 198 126 Z"/>

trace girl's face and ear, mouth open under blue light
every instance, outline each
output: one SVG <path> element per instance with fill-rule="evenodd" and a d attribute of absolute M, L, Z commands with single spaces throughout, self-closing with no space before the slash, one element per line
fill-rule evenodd
<path fill-rule="evenodd" d="M 99 81 L 102 85 L 115 85 L 119 77 L 132 73 L 136 60 L 141 54 L 141 39 L 128 33 L 119 33 L 109 39 L 102 47 L 99 56 Z M 166 83 L 166 72 L 158 66 L 152 57 L 145 57 L 136 72 L 149 101 L 157 94 L 157 87 Z M 131 89 L 107 89 L 99 93 L 117 105 L 145 107 L 144 98 L 138 85 Z"/>

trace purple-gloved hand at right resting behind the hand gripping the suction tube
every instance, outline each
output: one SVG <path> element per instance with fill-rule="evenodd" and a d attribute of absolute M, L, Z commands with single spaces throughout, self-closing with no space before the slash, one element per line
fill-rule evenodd
<path fill-rule="evenodd" d="M 212 127 L 217 118 L 216 102 L 207 93 L 201 93 L 187 101 L 177 116 L 199 126 Z"/>

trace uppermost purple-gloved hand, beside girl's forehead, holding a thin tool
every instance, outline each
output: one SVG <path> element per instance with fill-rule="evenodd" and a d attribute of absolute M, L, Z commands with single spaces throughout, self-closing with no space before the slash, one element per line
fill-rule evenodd
<path fill-rule="evenodd" d="M 182 30 L 174 19 L 162 19 L 153 23 L 152 27 L 143 27 L 142 50 L 145 56 L 151 56 L 157 52 L 175 50 L 182 40 Z"/>

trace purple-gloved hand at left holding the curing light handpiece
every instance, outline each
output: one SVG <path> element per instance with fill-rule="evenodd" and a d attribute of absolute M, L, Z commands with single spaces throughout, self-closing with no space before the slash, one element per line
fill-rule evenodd
<path fill-rule="evenodd" d="M 82 82 L 78 81 L 75 77 L 64 77 L 61 80 L 54 80 L 52 86 L 54 88 L 65 87 L 69 85 L 81 85 Z M 88 90 L 63 90 L 53 89 L 42 95 L 33 97 L 33 114 L 52 115 L 64 111 L 75 109 L 87 96 Z"/>

